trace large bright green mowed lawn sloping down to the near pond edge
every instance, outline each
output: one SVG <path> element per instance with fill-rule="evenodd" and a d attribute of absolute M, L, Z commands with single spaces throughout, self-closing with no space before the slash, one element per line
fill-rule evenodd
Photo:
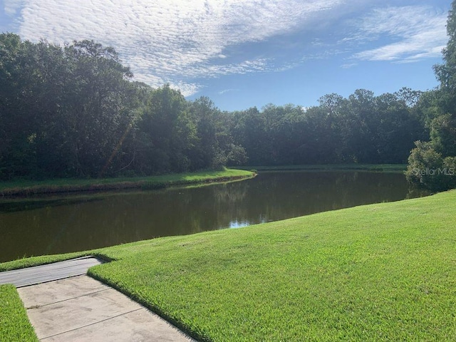
<path fill-rule="evenodd" d="M 454 341 L 455 212 L 450 191 L 135 242 L 90 274 L 202 341 Z"/>

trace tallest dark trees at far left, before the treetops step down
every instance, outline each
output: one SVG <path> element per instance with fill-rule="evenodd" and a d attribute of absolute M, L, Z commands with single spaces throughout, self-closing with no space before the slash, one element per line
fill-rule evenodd
<path fill-rule="evenodd" d="M 0 37 L 3 177 L 96 177 L 133 119 L 131 76 L 113 48 Z M 6 60 L 6 61 L 5 61 Z M 4 63 L 5 62 L 5 63 Z"/>

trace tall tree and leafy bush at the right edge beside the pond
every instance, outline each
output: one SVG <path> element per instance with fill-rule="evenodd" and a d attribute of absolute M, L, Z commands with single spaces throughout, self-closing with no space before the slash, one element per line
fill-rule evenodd
<path fill-rule="evenodd" d="M 420 103 L 430 142 L 416 142 L 410 153 L 406 176 L 410 182 L 431 190 L 456 187 L 456 1 L 448 14 L 445 63 L 434 66 L 440 88 Z"/>

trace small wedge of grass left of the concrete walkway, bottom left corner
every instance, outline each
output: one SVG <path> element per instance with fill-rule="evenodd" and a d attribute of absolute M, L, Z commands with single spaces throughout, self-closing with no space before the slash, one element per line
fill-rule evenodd
<path fill-rule="evenodd" d="M 38 342 L 13 285 L 0 285 L 0 341 Z"/>

